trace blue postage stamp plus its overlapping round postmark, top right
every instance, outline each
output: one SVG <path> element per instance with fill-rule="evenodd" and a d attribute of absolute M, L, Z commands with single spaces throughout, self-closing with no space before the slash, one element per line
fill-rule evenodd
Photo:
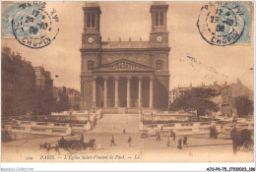
<path fill-rule="evenodd" d="M 197 27 L 212 45 L 251 42 L 251 3 L 215 2 L 201 8 Z"/>

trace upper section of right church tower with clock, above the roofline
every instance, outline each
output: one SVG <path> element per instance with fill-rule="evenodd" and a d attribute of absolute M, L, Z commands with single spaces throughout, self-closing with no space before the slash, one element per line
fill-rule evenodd
<path fill-rule="evenodd" d="M 166 13 L 168 5 L 163 2 L 154 2 L 151 6 L 152 30 L 150 33 L 151 47 L 168 46 L 168 31 Z"/>

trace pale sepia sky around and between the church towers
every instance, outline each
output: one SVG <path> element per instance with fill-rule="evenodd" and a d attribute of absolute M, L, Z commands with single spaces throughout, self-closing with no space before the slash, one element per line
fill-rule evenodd
<path fill-rule="evenodd" d="M 80 90 L 82 32 L 85 2 L 46 2 L 46 10 L 54 8 L 59 17 L 59 33 L 53 42 L 40 49 L 20 44 L 15 38 L 3 38 L 12 51 L 20 52 L 33 66 L 51 72 L 54 86 Z M 197 28 L 201 7 L 207 2 L 167 2 L 169 31 L 169 88 L 235 83 L 237 79 L 253 89 L 254 42 L 216 46 L 202 38 Z M 99 2 L 102 40 L 149 40 L 152 2 Z M 252 15 L 253 17 L 253 15 Z M 253 22 L 253 20 L 251 20 Z M 251 24 L 251 30 L 254 24 Z M 253 41 L 253 32 L 251 33 Z M 193 59 L 193 60 L 191 60 Z M 196 62 L 197 63 L 196 63 Z M 209 71 L 209 69 L 212 69 Z M 218 72 L 215 74 L 213 71 Z M 58 78 L 55 78 L 58 75 Z"/>

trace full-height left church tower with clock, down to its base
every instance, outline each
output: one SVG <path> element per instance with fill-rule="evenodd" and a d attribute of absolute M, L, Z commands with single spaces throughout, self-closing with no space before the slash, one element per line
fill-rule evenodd
<path fill-rule="evenodd" d="M 93 69 L 101 64 L 101 36 L 99 19 L 101 10 L 97 2 L 87 2 L 84 11 L 84 32 L 82 33 L 81 51 L 81 95 L 83 109 L 92 108 L 93 99 Z"/>

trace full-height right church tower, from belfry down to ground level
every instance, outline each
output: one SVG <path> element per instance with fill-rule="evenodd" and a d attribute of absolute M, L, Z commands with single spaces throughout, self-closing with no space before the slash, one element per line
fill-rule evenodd
<path fill-rule="evenodd" d="M 151 5 L 152 30 L 150 32 L 150 52 L 152 65 L 155 67 L 154 80 L 154 105 L 158 108 L 166 108 L 168 105 L 169 68 L 168 57 L 170 47 L 168 45 L 166 2 L 153 2 Z"/>

